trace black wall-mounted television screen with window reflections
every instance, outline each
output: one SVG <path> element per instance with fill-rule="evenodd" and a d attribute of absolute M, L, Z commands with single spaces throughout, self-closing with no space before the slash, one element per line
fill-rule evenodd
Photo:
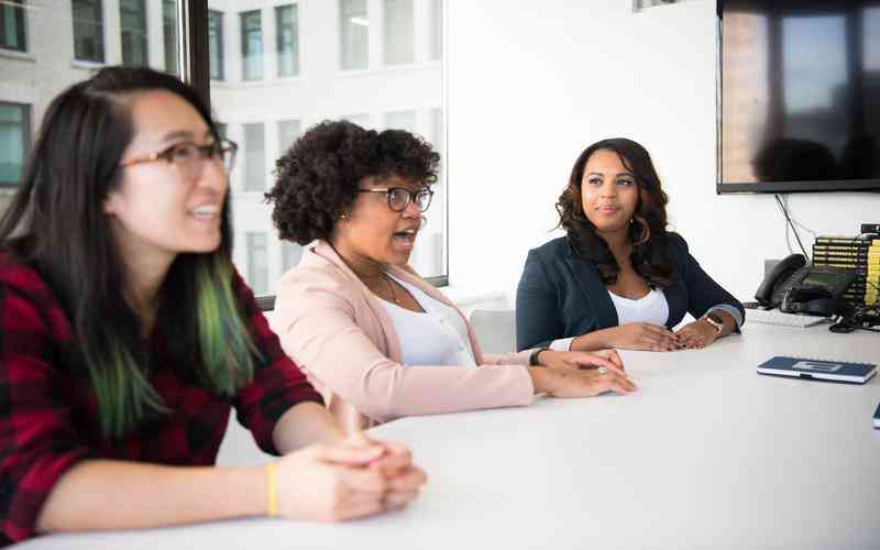
<path fill-rule="evenodd" d="M 717 191 L 880 191 L 880 0 L 718 15 Z"/>

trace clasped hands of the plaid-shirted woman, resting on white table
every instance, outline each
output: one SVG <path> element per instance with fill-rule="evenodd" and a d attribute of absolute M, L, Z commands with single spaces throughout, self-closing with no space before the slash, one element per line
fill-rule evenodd
<path fill-rule="evenodd" d="M 406 447 L 358 432 L 277 461 L 278 514 L 323 521 L 372 516 L 409 504 L 426 480 Z"/>

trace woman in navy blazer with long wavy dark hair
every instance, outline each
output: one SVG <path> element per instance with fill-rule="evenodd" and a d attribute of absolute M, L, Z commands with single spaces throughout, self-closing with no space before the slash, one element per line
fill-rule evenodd
<path fill-rule="evenodd" d="M 529 252 L 517 289 L 517 348 L 672 351 L 738 331 L 743 305 L 667 232 L 667 195 L 648 152 L 588 146 L 557 202 L 566 235 Z M 672 332 L 684 314 L 696 320 Z"/>

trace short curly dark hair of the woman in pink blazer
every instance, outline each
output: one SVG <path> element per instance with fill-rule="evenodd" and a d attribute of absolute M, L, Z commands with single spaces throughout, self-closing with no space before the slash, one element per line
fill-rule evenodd
<path fill-rule="evenodd" d="M 440 155 L 404 130 L 364 130 L 345 120 L 323 121 L 306 131 L 275 162 L 272 221 L 282 239 L 308 244 L 328 239 L 340 213 L 358 197 L 364 177 L 398 176 L 430 187 Z"/>

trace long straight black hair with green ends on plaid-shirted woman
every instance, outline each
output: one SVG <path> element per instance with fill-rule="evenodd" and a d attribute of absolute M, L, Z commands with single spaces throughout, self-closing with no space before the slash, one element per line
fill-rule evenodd
<path fill-rule="evenodd" d="M 0 248 L 43 276 L 72 321 L 74 363 L 88 371 L 105 435 L 119 437 L 148 415 L 167 411 L 147 382 L 150 356 L 141 319 L 125 299 L 125 268 L 103 202 L 120 185 L 120 161 L 134 135 L 130 102 L 167 90 L 191 105 L 219 140 L 199 95 L 176 77 L 145 67 L 107 67 L 50 105 L 22 175 L 0 220 Z M 169 346 L 218 394 L 253 376 L 258 351 L 232 289 L 229 196 L 221 244 L 178 254 L 162 287 Z M 189 306 L 187 306 L 189 305 Z"/>

